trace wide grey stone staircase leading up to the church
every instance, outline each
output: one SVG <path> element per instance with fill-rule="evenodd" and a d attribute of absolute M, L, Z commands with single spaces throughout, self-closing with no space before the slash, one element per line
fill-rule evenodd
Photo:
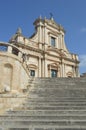
<path fill-rule="evenodd" d="M 25 102 L 0 116 L 1 129 L 86 130 L 86 78 L 35 78 Z"/>

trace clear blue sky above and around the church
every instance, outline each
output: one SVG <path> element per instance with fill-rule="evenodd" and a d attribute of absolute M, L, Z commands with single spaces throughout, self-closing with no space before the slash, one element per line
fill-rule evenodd
<path fill-rule="evenodd" d="M 86 72 L 86 0 L 0 0 L 0 41 L 9 41 L 18 27 L 29 37 L 34 20 L 50 12 L 66 30 L 69 51 L 79 55 L 80 73 Z"/>

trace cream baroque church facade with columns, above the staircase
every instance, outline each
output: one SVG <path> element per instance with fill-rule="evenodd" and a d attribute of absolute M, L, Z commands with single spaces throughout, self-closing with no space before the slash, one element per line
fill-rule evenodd
<path fill-rule="evenodd" d="M 53 18 L 34 22 L 35 32 L 30 38 L 19 28 L 9 41 L 23 53 L 31 77 L 79 77 L 79 60 L 65 45 L 65 30 Z M 17 54 L 17 51 L 13 51 Z"/>

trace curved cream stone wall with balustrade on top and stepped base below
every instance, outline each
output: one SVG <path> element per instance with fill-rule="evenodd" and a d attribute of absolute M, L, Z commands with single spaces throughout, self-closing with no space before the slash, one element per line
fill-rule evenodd
<path fill-rule="evenodd" d="M 25 100 L 29 70 L 22 55 L 15 46 L 0 43 L 0 113 Z"/>

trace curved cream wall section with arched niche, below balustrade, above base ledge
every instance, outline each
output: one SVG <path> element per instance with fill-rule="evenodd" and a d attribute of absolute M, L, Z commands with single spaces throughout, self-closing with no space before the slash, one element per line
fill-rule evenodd
<path fill-rule="evenodd" d="M 0 53 L 0 72 L 0 92 L 20 91 L 28 84 L 25 63 L 13 54 Z"/>

